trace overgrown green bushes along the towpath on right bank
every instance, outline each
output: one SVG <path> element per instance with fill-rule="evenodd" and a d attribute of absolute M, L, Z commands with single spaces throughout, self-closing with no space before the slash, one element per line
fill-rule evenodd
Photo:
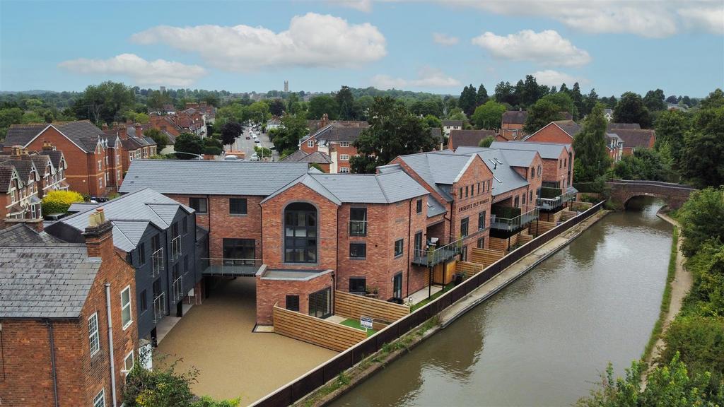
<path fill-rule="evenodd" d="M 724 188 L 697 191 L 678 211 L 694 285 L 664 334 L 659 366 L 647 374 L 645 390 L 642 362 L 633 361 L 616 379 L 609 365 L 578 406 L 724 406 L 723 214 Z"/>

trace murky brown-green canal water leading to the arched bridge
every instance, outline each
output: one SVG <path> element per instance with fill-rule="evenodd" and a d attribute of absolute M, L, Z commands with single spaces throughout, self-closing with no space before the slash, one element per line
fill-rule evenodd
<path fill-rule="evenodd" d="M 671 232 L 634 198 L 333 406 L 570 406 L 610 361 L 639 358 L 659 313 Z"/>

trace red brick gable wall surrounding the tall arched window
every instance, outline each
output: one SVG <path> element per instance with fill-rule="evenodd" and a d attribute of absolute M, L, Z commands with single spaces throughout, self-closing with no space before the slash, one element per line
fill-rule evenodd
<path fill-rule="evenodd" d="M 317 262 L 284 262 L 284 209 L 294 202 L 308 202 L 317 208 Z M 297 184 L 261 205 L 264 222 L 262 259 L 271 269 L 337 269 L 337 205 L 306 185 Z"/>

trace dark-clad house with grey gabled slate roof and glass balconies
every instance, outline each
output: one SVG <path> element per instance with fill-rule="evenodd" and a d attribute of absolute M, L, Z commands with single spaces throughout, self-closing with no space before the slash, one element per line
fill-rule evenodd
<path fill-rule="evenodd" d="M 83 243 L 88 214 L 104 211 L 112 226 L 114 250 L 135 269 L 132 298 L 138 339 L 155 342 L 157 327 L 166 316 L 182 316 L 184 304 L 201 301 L 197 244 L 205 250 L 206 232 L 197 229 L 193 209 L 149 189 L 77 208 L 77 213 L 49 225 L 46 232 Z"/>

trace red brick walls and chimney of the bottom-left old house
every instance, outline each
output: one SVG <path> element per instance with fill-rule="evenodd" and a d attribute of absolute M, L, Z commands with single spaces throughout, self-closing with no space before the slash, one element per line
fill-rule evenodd
<path fill-rule="evenodd" d="M 131 287 L 135 298 L 135 270 L 114 252 L 112 240 L 96 253 L 104 261 L 96 274 L 83 306 L 80 319 L 53 320 L 56 377 L 61 406 L 91 406 L 101 388 L 105 389 L 106 406 L 110 406 L 108 325 L 106 317 L 105 283 L 111 284 L 111 318 L 113 320 L 114 363 L 119 403 L 122 387 L 123 359 L 138 337 L 136 323 L 126 330 L 121 325 L 121 290 Z M 88 317 L 98 312 L 100 350 L 90 356 Z M 132 301 L 132 318 L 135 318 Z M 3 406 L 53 406 L 54 392 L 51 376 L 49 328 L 45 322 L 30 319 L 2 321 L 2 359 L 6 375 L 0 379 L 0 398 Z M 138 360 L 138 355 L 135 355 Z"/>

